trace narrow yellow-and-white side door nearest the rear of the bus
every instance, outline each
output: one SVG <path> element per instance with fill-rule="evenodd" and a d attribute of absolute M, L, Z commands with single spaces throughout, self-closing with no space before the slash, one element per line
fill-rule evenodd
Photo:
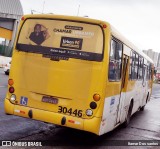
<path fill-rule="evenodd" d="M 124 100 L 126 97 L 126 84 L 127 84 L 127 74 L 128 74 L 128 63 L 129 63 L 129 56 L 123 55 L 123 64 L 122 64 L 122 83 L 121 83 L 121 92 L 120 92 L 120 98 L 119 98 L 119 105 L 117 108 L 117 120 L 116 124 L 120 122 L 120 119 L 123 114 L 123 107 L 124 107 Z M 115 125 L 116 125 L 115 124 Z"/>

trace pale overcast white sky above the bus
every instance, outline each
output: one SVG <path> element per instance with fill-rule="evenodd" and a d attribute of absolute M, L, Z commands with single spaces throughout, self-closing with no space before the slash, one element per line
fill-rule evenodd
<path fill-rule="evenodd" d="M 160 52 L 159 0 L 20 0 L 24 14 L 88 16 L 111 23 L 141 50 Z"/>

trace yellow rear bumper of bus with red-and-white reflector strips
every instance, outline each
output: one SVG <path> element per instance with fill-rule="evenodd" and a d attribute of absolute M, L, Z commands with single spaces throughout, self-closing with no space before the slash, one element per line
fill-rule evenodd
<path fill-rule="evenodd" d="M 92 132 L 99 135 L 100 118 L 82 119 L 60 113 L 12 104 L 5 99 L 5 113 Z M 30 115 L 30 116 L 29 116 Z"/>

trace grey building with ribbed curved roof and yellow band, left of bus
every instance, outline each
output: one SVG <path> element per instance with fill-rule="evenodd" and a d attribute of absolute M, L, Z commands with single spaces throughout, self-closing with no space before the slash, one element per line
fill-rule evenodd
<path fill-rule="evenodd" d="M 0 0 L 0 38 L 9 41 L 4 49 L 4 55 L 6 56 L 11 56 L 19 20 L 22 15 L 23 8 L 20 0 Z"/>

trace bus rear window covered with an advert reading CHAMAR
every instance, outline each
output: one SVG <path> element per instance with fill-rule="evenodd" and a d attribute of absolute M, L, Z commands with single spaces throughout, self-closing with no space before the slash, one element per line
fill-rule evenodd
<path fill-rule="evenodd" d="M 16 49 L 44 57 L 103 59 L 103 31 L 99 25 L 64 20 L 27 19 Z"/>

